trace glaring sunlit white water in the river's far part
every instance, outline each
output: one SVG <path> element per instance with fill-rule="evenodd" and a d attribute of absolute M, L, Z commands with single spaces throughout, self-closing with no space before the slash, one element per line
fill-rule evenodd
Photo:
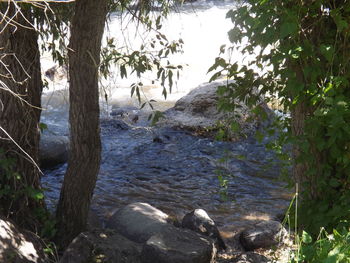
<path fill-rule="evenodd" d="M 162 22 L 161 32 L 169 41 L 182 39 L 184 41 L 183 53 L 170 55 L 169 61 L 173 65 L 182 65 L 179 80 L 174 84 L 172 93 L 167 99 L 162 95 L 160 85 L 152 84 L 156 78 L 156 71 L 147 73 L 138 79 L 135 75 L 129 75 L 122 79 L 116 66 L 112 66 L 112 73 L 107 80 L 101 80 L 100 88 L 108 95 L 108 105 L 101 100 L 102 111 L 110 111 L 111 105 L 139 106 L 136 97 L 130 96 L 130 85 L 136 82 L 144 84 L 143 92 L 148 100 L 154 99 L 156 109 L 165 110 L 171 107 L 179 98 L 193 88 L 207 82 L 210 74 L 209 67 L 219 55 L 220 46 L 228 44 L 227 32 L 232 27 L 226 13 L 234 8 L 234 1 L 203 1 L 193 4 L 185 4 L 172 11 Z M 131 21 L 130 16 L 113 14 L 106 27 L 106 37 L 113 37 L 118 47 L 127 46 L 129 50 L 138 50 L 142 43 L 154 37 L 154 32 L 147 33 L 137 21 Z M 125 49 L 124 49 L 125 50 Z M 43 72 L 54 66 L 49 54 L 44 54 L 42 59 Z M 66 78 L 60 81 L 48 81 L 48 89 L 45 90 L 44 109 L 58 110 L 61 105 L 66 105 L 68 84 Z M 58 91 L 53 93 L 54 91 Z M 145 97 L 143 97 L 145 99 Z M 64 106 L 65 109 L 67 107 Z M 63 110 L 63 109 L 62 109 Z M 49 114 L 49 113 L 48 113 Z M 45 116 L 45 110 L 43 112 Z"/>

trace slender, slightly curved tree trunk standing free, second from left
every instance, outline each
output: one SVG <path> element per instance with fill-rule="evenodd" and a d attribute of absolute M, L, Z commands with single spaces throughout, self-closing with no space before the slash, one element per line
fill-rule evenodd
<path fill-rule="evenodd" d="M 62 247 L 86 228 L 100 166 L 98 64 L 107 0 L 78 0 L 69 51 L 71 154 L 57 208 Z"/>

